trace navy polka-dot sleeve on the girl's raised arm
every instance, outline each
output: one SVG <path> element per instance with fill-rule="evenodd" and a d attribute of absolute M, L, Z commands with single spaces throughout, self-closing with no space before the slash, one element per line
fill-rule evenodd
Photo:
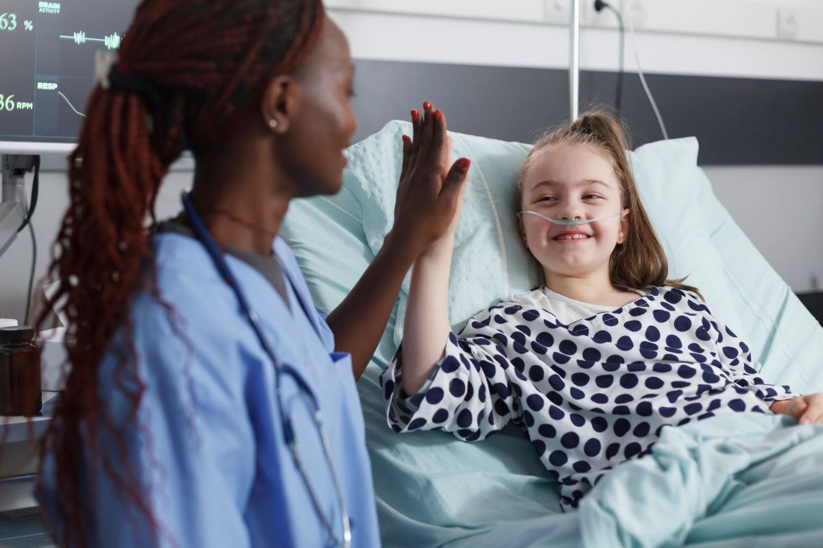
<path fill-rule="evenodd" d="M 394 431 L 443 430 L 475 441 L 521 417 L 514 394 L 519 387 L 509 376 L 516 369 L 507 355 L 508 339 L 490 326 L 495 308 L 469 320 L 459 337 L 449 334 L 444 356 L 411 396 L 402 389 L 402 345 L 398 348 L 380 378 Z"/>

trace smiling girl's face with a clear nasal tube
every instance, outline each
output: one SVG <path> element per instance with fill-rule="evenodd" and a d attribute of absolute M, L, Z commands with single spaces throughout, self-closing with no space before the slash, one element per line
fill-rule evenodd
<path fill-rule="evenodd" d="M 625 241 L 629 210 L 606 154 L 592 145 L 551 145 L 531 160 L 522 182 L 521 209 L 550 219 L 594 223 L 561 226 L 536 215 L 518 214 L 520 236 L 552 276 L 574 278 L 605 273 L 616 244 Z M 619 214 L 618 214 L 619 213 Z"/>

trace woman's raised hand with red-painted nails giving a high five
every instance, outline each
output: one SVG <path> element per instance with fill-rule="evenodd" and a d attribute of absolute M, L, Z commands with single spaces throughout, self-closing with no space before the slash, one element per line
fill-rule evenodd
<path fill-rule="evenodd" d="M 470 161 L 451 163 L 445 115 L 425 102 L 412 111 L 413 136 L 403 136 L 403 161 L 389 235 L 413 257 L 454 228 L 463 201 Z"/>

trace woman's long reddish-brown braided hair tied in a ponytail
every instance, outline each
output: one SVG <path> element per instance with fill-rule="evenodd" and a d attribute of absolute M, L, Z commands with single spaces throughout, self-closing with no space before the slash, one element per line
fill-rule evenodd
<path fill-rule="evenodd" d="M 98 495 L 93 470 L 100 468 L 133 503 L 136 527 L 149 524 L 154 544 L 169 536 L 142 498 L 151 488 L 142 481 L 158 477 L 162 467 L 151 462 L 147 470 L 133 469 L 146 455 L 130 460 L 126 442 L 129 431 L 141 429 L 151 459 L 151 432 L 137 421 L 145 386 L 128 315 L 141 288 L 160 300 L 146 223 L 156 223 L 157 192 L 170 163 L 183 150 L 208 150 L 230 136 L 242 122 L 235 114 L 253 104 L 272 77 L 304 61 L 323 19 L 321 0 L 144 0 L 125 32 L 109 88 L 98 85 L 91 94 L 49 267 L 59 280 L 53 302 L 62 302 L 71 342 L 71 372 L 42 448 L 56 457 L 52 510 L 59 523 L 51 525 L 60 546 L 97 543 L 84 500 Z M 164 306 L 176 325 L 174 311 Z M 44 322 L 45 313 L 37 323 Z M 98 392 L 107 349 L 117 349 L 114 385 L 128 402 L 116 419 Z M 188 374 L 183 365 L 180 373 Z M 84 462 L 97 465 L 84 471 Z"/>

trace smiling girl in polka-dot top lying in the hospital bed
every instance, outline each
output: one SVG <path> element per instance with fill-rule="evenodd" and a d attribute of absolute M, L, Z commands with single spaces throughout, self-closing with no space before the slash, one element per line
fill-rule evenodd
<path fill-rule="evenodd" d="M 381 378 L 395 431 L 474 441 L 514 422 L 576 507 L 607 470 L 648 453 L 663 426 L 731 412 L 823 421 L 823 394 L 766 384 L 700 293 L 667 279 L 625 150 L 621 127 L 599 112 L 534 145 L 518 223 L 546 284 L 458 336 L 447 308 L 453 230 L 417 260 L 402 346 Z"/>

